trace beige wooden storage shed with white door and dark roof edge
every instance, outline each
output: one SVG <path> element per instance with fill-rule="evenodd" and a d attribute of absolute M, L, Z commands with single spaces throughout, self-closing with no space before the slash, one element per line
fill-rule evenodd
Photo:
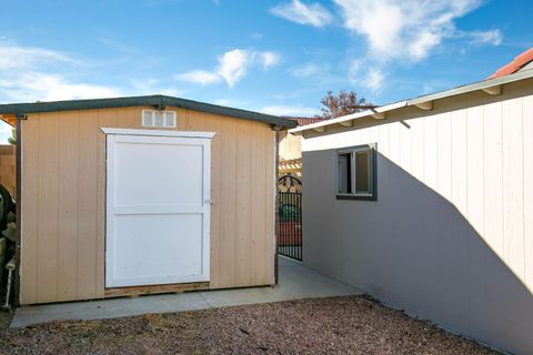
<path fill-rule="evenodd" d="M 274 283 L 275 131 L 293 121 L 164 95 L 0 114 L 20 304 Z"/>

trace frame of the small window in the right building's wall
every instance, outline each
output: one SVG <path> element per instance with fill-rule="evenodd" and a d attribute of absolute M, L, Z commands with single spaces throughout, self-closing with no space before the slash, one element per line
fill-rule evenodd
<path fill-rule="evenodd" d="M 376 166 L 375 166 L 375 149 L 376 144 L 363 144 L 351 148 L 343 148 L 336 151 L 336 199 L 338 200 L 376 200 Z M 368 169 L 369 169 L 369 193 L 356 192 L 356 161 L 358 152 L 369 152 Z M 351 192 L 341 192 L 341 163 L 340 156 L 350 155 L 350 185 Z"/>

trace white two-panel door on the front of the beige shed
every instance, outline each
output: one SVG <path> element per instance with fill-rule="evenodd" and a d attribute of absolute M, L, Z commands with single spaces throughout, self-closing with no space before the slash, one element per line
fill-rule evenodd
<path fill-rule="evenodd" d="M 210 143 L 107 135 L 105 287 L 209 281 Z"/>

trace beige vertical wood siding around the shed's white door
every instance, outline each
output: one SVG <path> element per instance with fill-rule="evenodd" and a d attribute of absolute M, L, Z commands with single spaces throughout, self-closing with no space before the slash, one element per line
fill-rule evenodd
<path fill-rule="evenodd" d="M 31 114 L 22 121 L 22 304 L 104 297 L 105 140 L 142 128 L 141 110 Z M 177 130 L 212 141 L 212 288 L 268 285 L 274 277 L 274 132 L 268 124 L 178 112 Z"/>

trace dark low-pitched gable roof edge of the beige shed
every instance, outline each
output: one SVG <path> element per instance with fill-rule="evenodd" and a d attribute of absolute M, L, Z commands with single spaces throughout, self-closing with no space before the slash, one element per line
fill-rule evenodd
<path fill-rule="evenodd" d="M 50 101 L 34 103 L 8 103 L 0 104 L 0 114 L 6 115 L 23 115 L 37 112 L 54 112 L 54 111 L 72 111 L 72 110 L 93 110 L 109 108 L 128 108 L 128 106 L 154 106 L 163 110 L 165 106 L 175 106 L 187 110 L 208 112 L 213 114 L 227 115 L 243 120 L 258 121 L 283 128 L 294 128 L 296 122 L 286 120 L 272 114 L 264 114 L 241 109 L 221 106 L 217 104 L 199 102 L 193 100 L 167 97 L 167 95 L 148 95 L 148 97 L 129 97 L 112 99 L 89 99 L 89 100 L 68 100 L 68 101 Z"/>

